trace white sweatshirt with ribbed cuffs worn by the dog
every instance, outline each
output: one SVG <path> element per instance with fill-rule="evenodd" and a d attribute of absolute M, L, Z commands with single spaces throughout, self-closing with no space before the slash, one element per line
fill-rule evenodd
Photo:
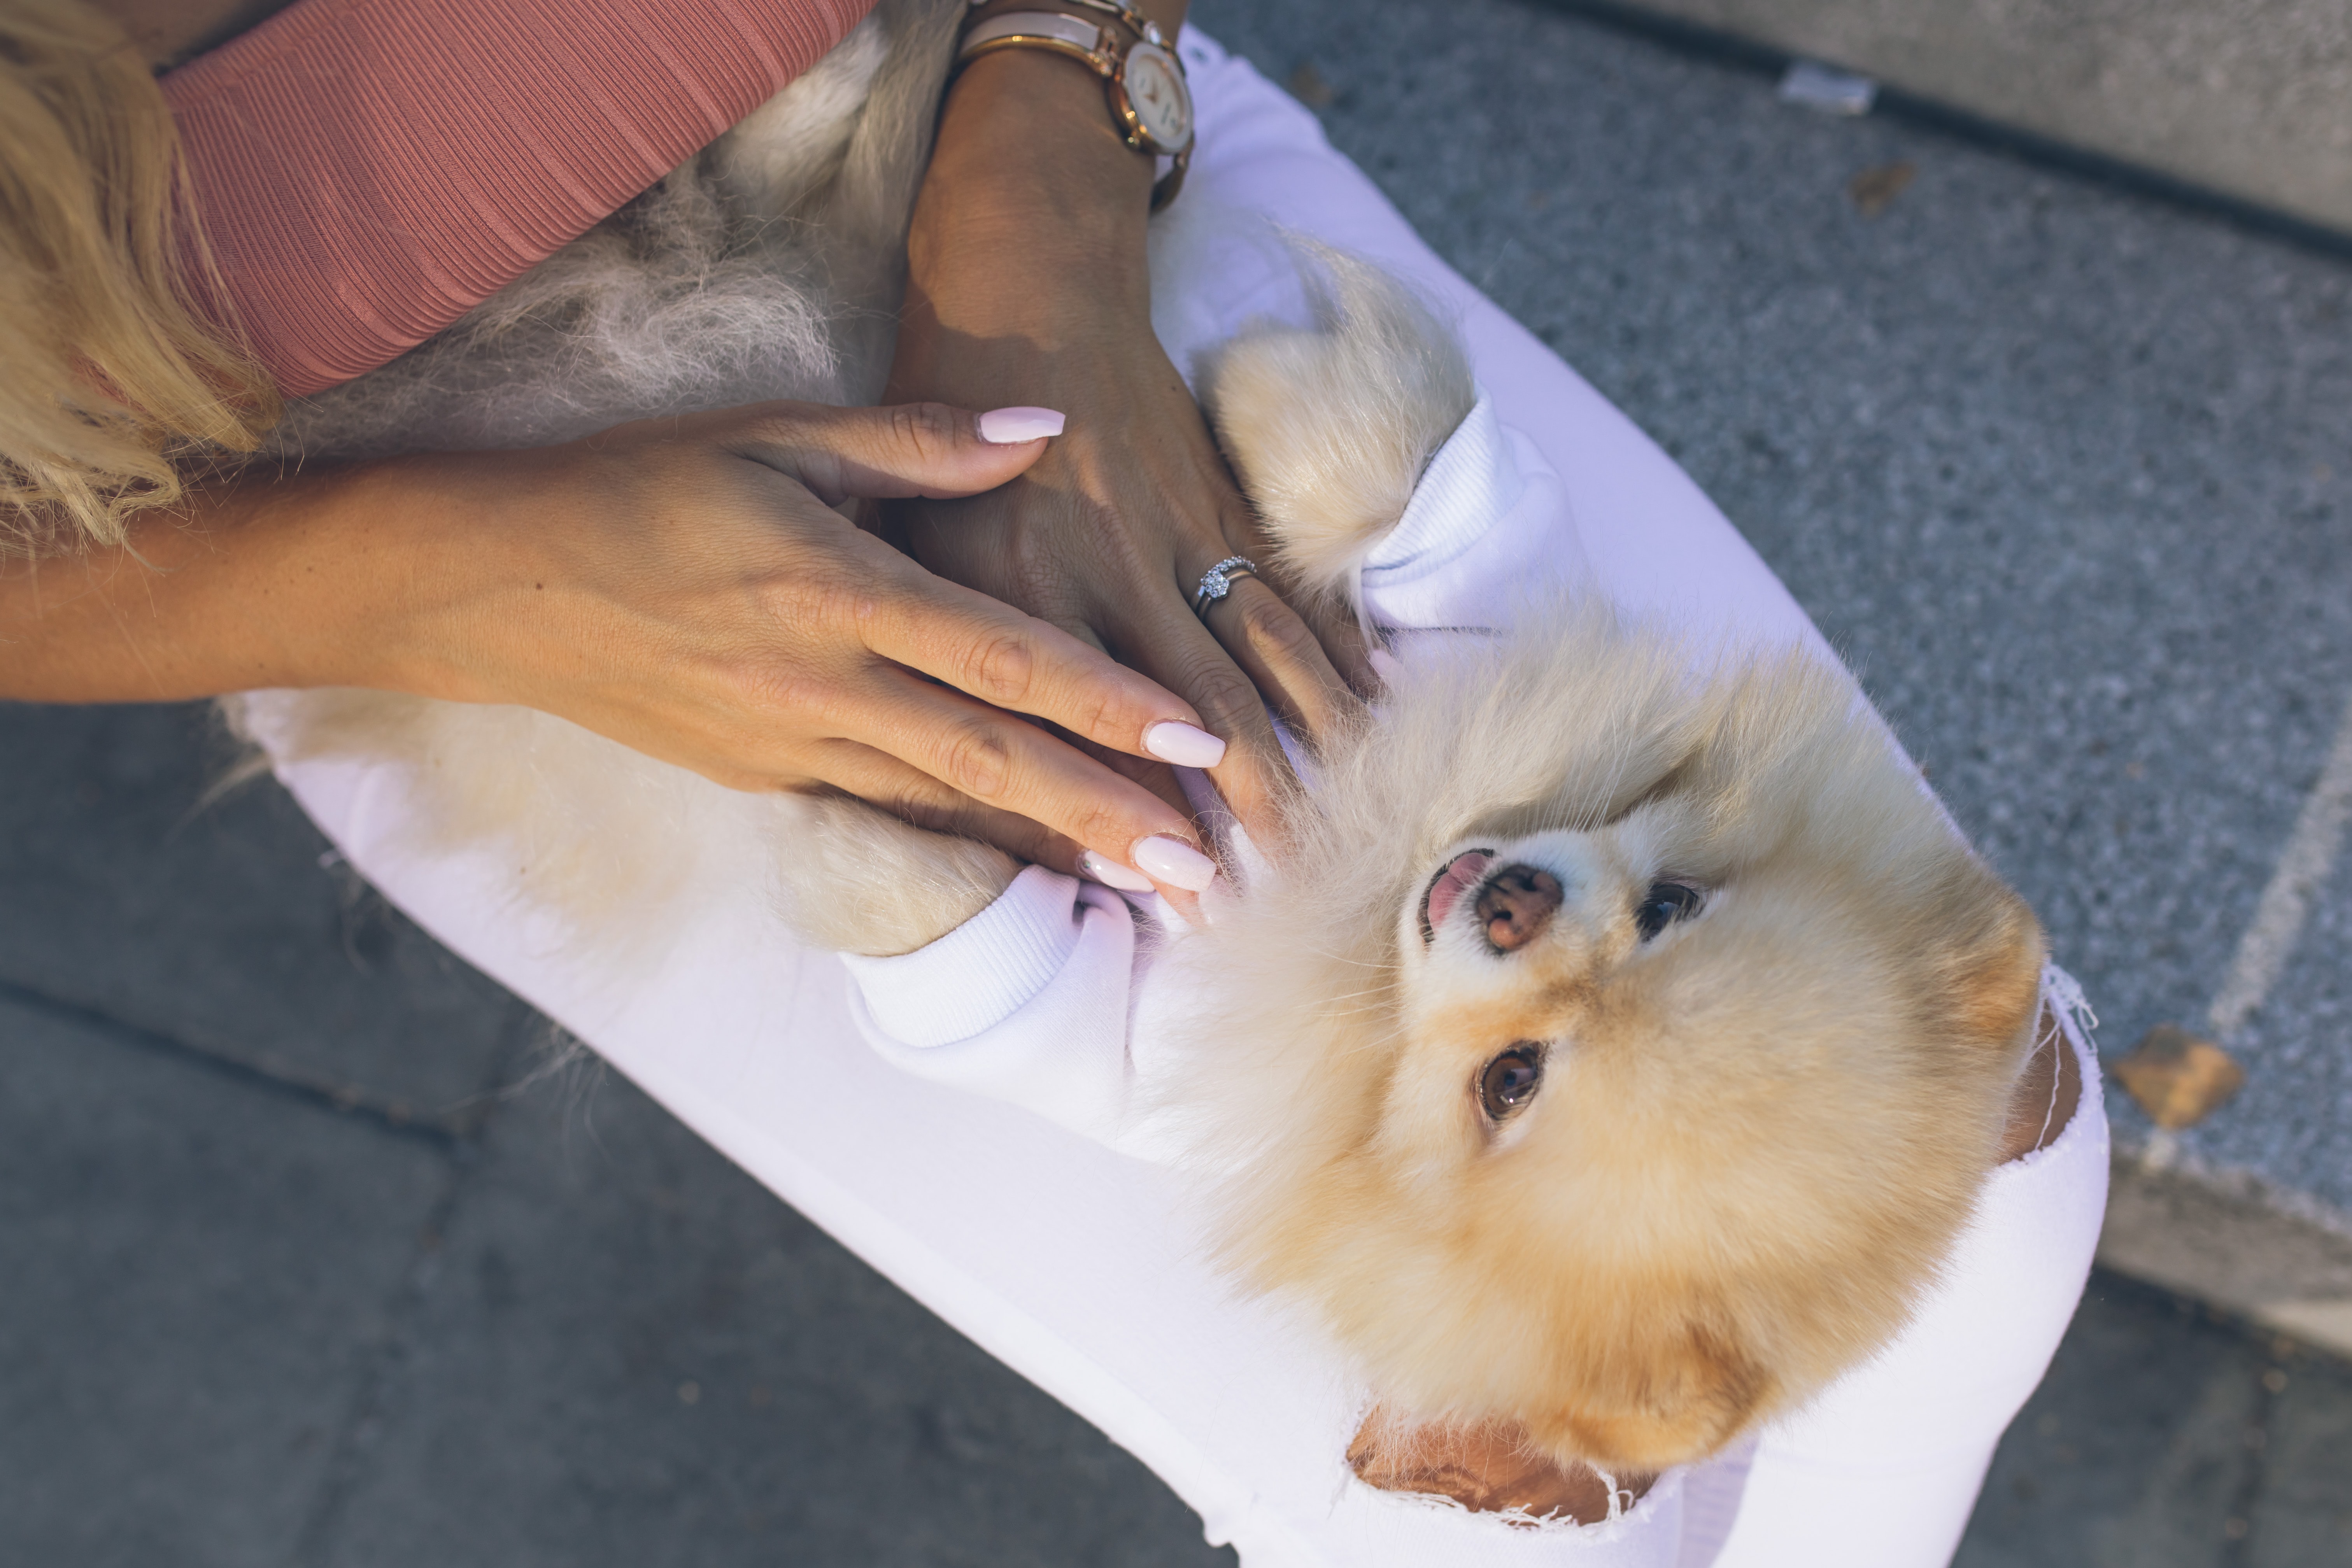
<path fill-rule="evenodd" d="M 1475 632 L 1526 583 L 1583 574 L 1566 484 L 1479 395 L 1364 562 L 1362 602 L 1411 658 L 1416 635 Z M 1207 783 L 1185 788 L 1202 799 Z M 1247 872 L 1247 839 L 1232 851 Z M 1204 910 L 1216 917 L 1214 889 Z M 1162 1009 L 1190 992 L 1174 978 L 1183 936 L 1155 896 L 1129 900 L 1033 865 L 929 947 L 842 961 L 851 1016 L 889 1063 L 1150 1157 L 1136 1084 Z"/>

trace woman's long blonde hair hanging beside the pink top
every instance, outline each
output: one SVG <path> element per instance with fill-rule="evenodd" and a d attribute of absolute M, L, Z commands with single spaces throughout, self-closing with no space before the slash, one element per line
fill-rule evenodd
<path fill-rule="evenodd" d="M 183 470 L 254 451 L 278 388 L 214 327 L 172 108 L 75 0 L 0 9 L 0 557 L 120 545 Z"/>

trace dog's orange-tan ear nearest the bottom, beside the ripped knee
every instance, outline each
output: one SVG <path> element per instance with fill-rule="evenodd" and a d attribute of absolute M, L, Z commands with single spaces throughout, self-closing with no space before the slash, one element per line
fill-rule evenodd
<path fill-rule="evenodd" d="M 1606 1472 L 1656 1474 L 1700 1460 L 1764 1408 L 1773 1380 L 1736 1345 L 1700 1326 L 1682 1326 L 1616 1359 L 1611 1387 L 1588 1387 L 1548 1415 L 1531 1415 L 1531 1436 L 1557 1460 L 1585 1460 Z"/>

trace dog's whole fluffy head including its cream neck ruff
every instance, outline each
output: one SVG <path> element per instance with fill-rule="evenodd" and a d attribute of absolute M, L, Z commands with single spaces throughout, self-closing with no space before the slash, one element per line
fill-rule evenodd
<path fill-rule="evenodd" d="M 1658 1469 L 1900 1328 L 1992 1164 L 2042 938 L 1820 665 L 1576 696 L 1552 736 L 1510 729 L 1529 689 L 1399 705 L 1383 741 L 1446 759 L 1428 811 L 1404 748 L 1343 759 L 1376 809 L 1218 938 L 1279 1009 L 1237 1251 L 1390 1403 Z"/>

